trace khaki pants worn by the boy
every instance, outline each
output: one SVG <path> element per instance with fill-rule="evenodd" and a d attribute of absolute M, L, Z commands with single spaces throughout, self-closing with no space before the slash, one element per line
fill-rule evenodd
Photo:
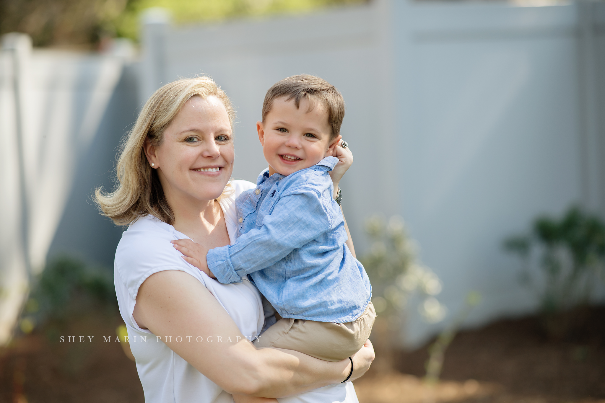
<path fill-rule="evenodd" d="M 375 318 L 376 311 L 371 302 L 359 318 L 348 323 L 282 318 L 254 344 L 295 350 L 324 361 L 340 361 L 361 349 L 370 337 Z"/>

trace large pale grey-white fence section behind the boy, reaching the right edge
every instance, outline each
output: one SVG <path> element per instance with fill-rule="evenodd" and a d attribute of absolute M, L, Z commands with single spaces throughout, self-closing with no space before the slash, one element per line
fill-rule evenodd
<path fill-rule="evenodd" d="M 270 85 L 301 73 L 336 85 L 356 247 L 367 250 L 367 216 L 401 214 L 450 311 L 482 292 L 470 325 L 535 307 L 504 237 L 573 203 L 605 211 L 603 2 L 376 0 L 188 27 L 149 10 L 144 21 L 141 101 L 178 77 L 214 77 L 238 112 L 236 177 L 266 167 L 255 122 Z M 408 345 L 443 326 L 408 324 Z"/>

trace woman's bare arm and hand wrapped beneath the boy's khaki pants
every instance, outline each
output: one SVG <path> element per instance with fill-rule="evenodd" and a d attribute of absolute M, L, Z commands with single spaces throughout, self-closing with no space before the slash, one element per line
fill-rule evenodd
<path fill-rule="evenodd" d="M 161 340 L 171 337 L 170 349 L 229 393 L 290 396 L 342 382 L 351 369 L 348 359 L 329 363 L 292 350 L 257 349 L 208 289 L 182 271 L 149 276 L 139 288 L 133 317 Z M 197 343 L 198 336 L 204 341 Z M 371 344 L 356 353 L 351 379 L 363 375 L 373 359 Z"/>

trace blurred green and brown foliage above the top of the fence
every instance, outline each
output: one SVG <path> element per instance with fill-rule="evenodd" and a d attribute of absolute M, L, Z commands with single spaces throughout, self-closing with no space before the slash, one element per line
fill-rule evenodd
<path fill-rule="evenodd" d="M 30 34 L 34 45 L 94 45 L 104 37 L 138 39 L 139 14 L 171 11 L 176 24 L 242 16 L 301 13 L 368 0 L 2 0 L 0 33 Z M 295 28 L 296 29 L 296 28 Z M 304 29 L 300 27 L 299 29 Z"/>

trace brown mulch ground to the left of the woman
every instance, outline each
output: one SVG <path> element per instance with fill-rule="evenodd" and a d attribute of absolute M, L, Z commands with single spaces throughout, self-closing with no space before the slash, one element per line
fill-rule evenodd
<path fill-rule="evenodd" d="M 0 352 L 0 402 L 143 403 L 134 362 L 120 343 L 103 343 L 103 336 L 116 341 L 121 323 L 117 317 L 93 314 L 72 321 L 51 340 L 32 334 L 13 341 Z M 76 343 L 69 343 L 70 335 Z M 83 343 L 79 335 L 86 336 Z"/>

